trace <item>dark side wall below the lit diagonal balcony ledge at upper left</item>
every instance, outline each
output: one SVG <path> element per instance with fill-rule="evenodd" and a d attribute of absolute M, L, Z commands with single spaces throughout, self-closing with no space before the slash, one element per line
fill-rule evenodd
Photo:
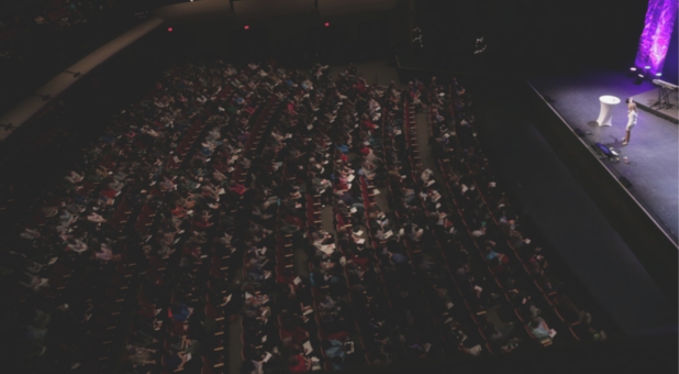
<path fill-rule="evenodd" d="M 102 134 L 114 113 L 153 89 L 167 66 L 196 55 L 181 33 L 156 30 L 80 77 L 16 129 L 0 146 L 0 241 L 18 238 L 14 226 L 35 213 L 26 208 L 45 197 L 47 186 L 64 180 L 81 161 L 81 147 Z"/>

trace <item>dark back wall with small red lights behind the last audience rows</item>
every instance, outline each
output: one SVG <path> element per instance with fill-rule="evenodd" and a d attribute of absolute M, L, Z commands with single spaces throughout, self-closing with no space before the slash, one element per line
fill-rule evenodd
<path fill-rule="evenodd" d="M 244 24 L 211 20 L 182 25 L 202 51 L 230 61 L 272 57 L 289 67 L 346 64 L 392 56 L 394 11 L 321 19 L 300 14 Z M 325 22 L 330 25 L 324 26 Z M 178 28 L 179 29 L 179 28 Z"/>

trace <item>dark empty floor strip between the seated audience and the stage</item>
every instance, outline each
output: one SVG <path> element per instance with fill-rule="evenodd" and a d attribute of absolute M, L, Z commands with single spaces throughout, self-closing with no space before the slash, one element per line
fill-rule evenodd
<path fill-rule="evenodd" d="M 486 153 L 508 180 L 507 187 L 592 299 L 622 330 L 631 334 L 676 333 L 677 311 L 513 100 L 511 92 L 485 92 L 476 111 Z M 593 108 L 586 118 L 595 114 Z M 622 116 L 614 113 L 617 121 Z M 620 132 L 615 123 L 609 131 Z M 644 131 L 637 133 L 638 140 Z"/>

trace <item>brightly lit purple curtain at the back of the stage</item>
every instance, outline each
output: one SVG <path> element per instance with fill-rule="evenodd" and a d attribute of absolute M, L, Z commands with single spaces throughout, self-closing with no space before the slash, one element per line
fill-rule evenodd
<path fill-rule="evenodd" d="M 677 0 L 648 0 L 644 32 L 634 61 L 637 67 L 650 66 L 653 75 L 663 72 L 676 18 Z"/>

